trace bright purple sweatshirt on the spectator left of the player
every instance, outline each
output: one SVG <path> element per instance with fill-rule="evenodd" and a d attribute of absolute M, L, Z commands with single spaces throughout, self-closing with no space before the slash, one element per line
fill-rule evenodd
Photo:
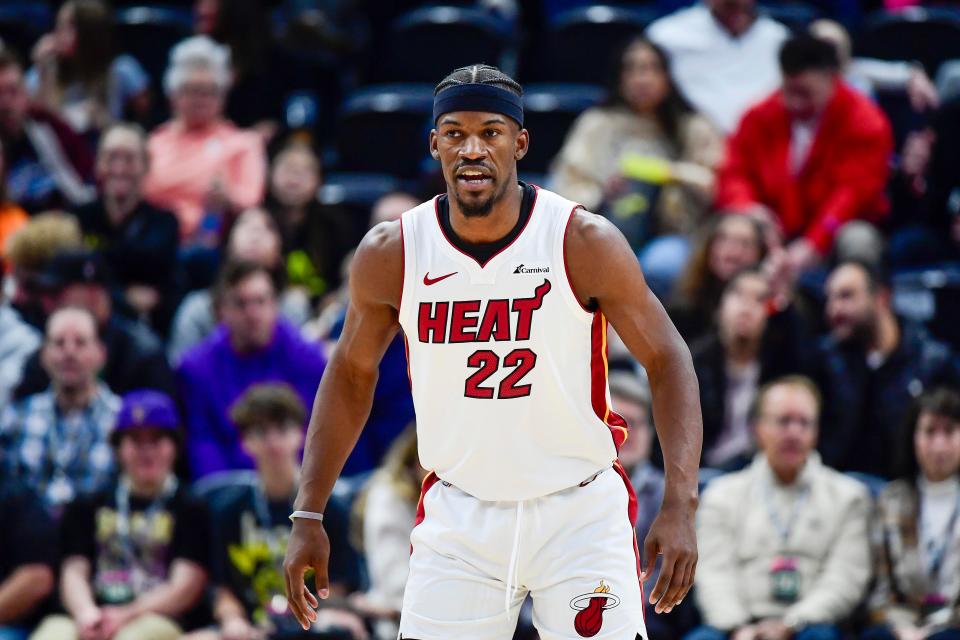
<path fill-rule="evenodd" d="M 186 412 L 187 459 L 193 477 L 253 468 L 230 420 L 230 407 L 251 385 L 286 382 L 297 391 L 309 415 L 325 366 L 320 346 L 304 340 L 283 318 L 277 321 L 273 341 L 259 351 L 234 351 L 223 326 L 188 351 L 177 369 L 177 379 Z"/>

